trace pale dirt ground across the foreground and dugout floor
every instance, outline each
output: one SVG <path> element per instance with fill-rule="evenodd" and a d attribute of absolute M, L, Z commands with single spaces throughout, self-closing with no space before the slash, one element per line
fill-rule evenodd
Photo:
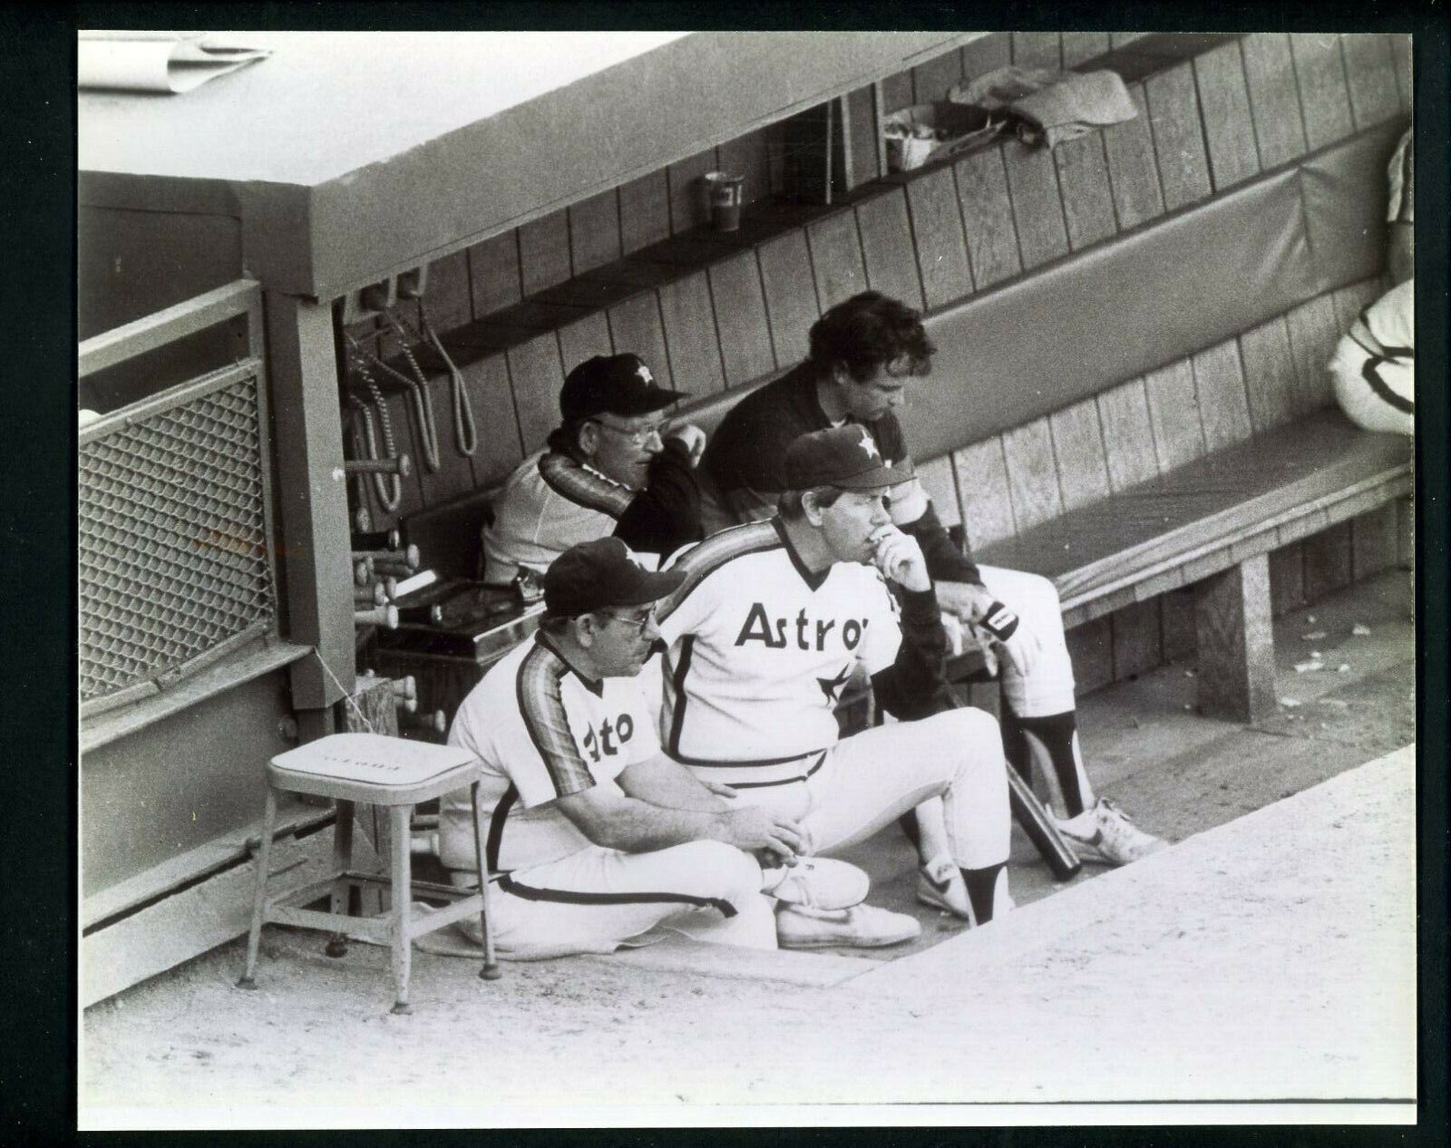
<path fill-rule="evenodd" d="M 1415 768 L 1392 750 L 1415 740 L 1406 599 L 1392 573 L 1281 620 L 1278 692 L 1299 704 L 1259 727 L 1185 711 L 1184 666 L 1085 698 L 1096 784 L 1180 843 L 1058 885 L 1019 842 L 1022 907 L 988 929 L 921 910 L 923 940 L 872 958 L 737 961 L 667 942 L 509 964 L 493 983 L 472 959 L 418 954 L 414 1014 L 390 1016 L 386 951 L 335 961 L 319 935 L 270 926 L 255 993 L 234 987 L 232 942 L 86 1012 L 81 1128 L 784 1123 L 804 1104 L 833 1106 L 808 1123 L 916 1123 L 933 1109 L 903 1106 L 1405 1100 Z M 1297 673 L 1310 644 L 1325 669 Z M 905 910 L 904 845 L 884 835 L 860 859 L 874 903 Z"/>

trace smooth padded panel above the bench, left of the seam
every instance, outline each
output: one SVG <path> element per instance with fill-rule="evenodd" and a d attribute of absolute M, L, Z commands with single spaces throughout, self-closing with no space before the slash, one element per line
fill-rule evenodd
<path fill-rule="evenodd" d="M 904 422 L 932 459 L 1209 347 L 1312 293 L 1294 171 L 1045 267 L 927 322 Z"/>

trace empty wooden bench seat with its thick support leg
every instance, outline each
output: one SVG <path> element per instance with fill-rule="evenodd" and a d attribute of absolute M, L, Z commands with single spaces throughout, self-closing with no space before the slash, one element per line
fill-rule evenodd
<path fill-rule="evenodd" d="M 1275 708 L 1270 552 L 1410 489 L 1409 438 L 1368 434 L 1323 409 L 987 546 L 978 559 L 1051 578 L 1066 628 L 1193 586 L 1200 710 L 1258 721 Z"/>

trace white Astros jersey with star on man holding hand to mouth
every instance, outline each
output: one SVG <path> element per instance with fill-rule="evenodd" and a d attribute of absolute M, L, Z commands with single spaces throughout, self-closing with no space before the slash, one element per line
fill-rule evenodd
<path fill-rule="evenodd" d="M 802 758 L 836 743 L 834 707 L 858 666 L 872 675 L 897 656 L 887 583 L 855 563 L 811 573 L 779 520 L 715 534 L 675 569 L 686 579 L 656 608 L 666 750 L 728 785 L 800 776 Z"/>

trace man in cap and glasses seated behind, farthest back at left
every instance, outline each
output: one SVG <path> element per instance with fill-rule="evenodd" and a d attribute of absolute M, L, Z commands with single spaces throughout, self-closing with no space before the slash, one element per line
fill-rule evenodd
<path fill-rule="evenodd" d="M 698 541 L 698 427 L 667 427 L 683 395 L 656 383 L 634 354 L 593 356 L 564 379 L 562 425 L 525 459 L 495 499 L 483 530 L 483 581 L 506 586 L 521 569 L 541 573 L 575 543 L 617 537 L 660 556 Z"/>

